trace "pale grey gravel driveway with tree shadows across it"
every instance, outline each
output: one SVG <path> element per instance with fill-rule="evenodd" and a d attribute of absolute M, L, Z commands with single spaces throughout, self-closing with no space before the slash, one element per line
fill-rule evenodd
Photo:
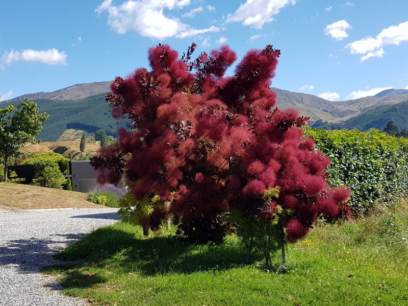
<path fill-rule="evenodd" d="M 38 271 L 61 264 L 53 258 L 67 244 L 119 218 L 116 208 L 0 209 L 0 305 L 78 305 L 63 296 L 54 276 Z"/>

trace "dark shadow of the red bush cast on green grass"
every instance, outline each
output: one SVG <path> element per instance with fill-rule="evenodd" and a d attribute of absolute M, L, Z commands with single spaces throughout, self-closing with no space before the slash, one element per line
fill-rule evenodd
<path fill-rule="evenodd" d="M 58 260 L 83 260 L 83 262 L 65 268 L 49 267 L 45 272 L 65 269 L 67 274 L 62 283 L 69 289 L 78 288 L 79 285 L 74 283 L 75 279 L 78 279 L 75 281 L 88 279 L 82 272 L 77 271 L 89 269 L 94 271 L 101 268 L 104 271 L 109 267 L 113 273 L 117 269 L 117 273 L 137 273 L 143 277 L 167 273 L 189 274 L 198 271 L 215 273 L 245 265 L 246 250 L 241 244 L 225 242 L 199 245 L 172 236 L 138 238 L 126 230 L 127 225 L 123 228 L 109 226 L 95 230 L 56 256 Z M 101 273 L 104 273 L 103 271 Z M 87 284 L 84 281 L 81 284 L 92 286 L 95 282 Z"/>

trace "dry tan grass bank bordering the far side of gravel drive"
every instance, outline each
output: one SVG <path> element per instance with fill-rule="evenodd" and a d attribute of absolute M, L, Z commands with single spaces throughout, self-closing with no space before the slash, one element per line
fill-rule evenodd
<path fill-rule="evenodd" d="M 87 194 L 15 183 L 0 183 L 3 208 L 97 208 L 104 207 L 86 200 Z M 2 207 L 0 207 L 2 208 Z"/>

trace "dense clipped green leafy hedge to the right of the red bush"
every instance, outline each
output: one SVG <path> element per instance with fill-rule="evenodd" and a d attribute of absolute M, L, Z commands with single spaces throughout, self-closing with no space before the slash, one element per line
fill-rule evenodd
<path fill-rule="evenodd" d="M 364 215 L 376 203 L 387 205 L 407 194 L 407 138 L 375 129 L 304 131 L 331 160 L 327 169 L 329 184 L 349 187 L 354 214 Z"/>

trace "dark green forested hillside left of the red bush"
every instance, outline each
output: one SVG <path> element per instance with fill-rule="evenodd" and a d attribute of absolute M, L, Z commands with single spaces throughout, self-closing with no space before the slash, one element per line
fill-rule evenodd
<path fill-rule="evenodd" d="M 105 94 L 81 100 L 33 100 L 40 112 L 49 114 L 44 122 L 39 138 L 43 142 L 56 142 L 66 129 L 83 130 L 94 133 L 105 129 L 108 135 L 116 136 L 119 127 L 128 127 L 130 120 L 116 120 L 111 115 L 109 104 L 105 102 Z M 17 104 L 13 102 L 11 104 Z"/>

